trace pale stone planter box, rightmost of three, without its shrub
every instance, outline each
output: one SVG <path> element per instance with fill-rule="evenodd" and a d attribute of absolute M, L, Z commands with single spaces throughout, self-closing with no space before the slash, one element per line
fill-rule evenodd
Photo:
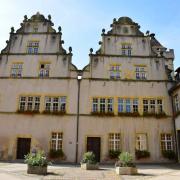
<path fill-rule="evenodd" d="M 137 173 L 137 168 L 135 167 L 116 167 L 116 174 L 119 175 L 135 175 Z"/>

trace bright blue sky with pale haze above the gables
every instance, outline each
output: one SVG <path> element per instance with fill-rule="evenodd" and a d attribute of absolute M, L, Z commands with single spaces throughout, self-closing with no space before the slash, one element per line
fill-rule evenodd
<path fill-rule="evenodd" d="M 9 38 L 10 27 L 19 28 L 26 14 L 51 14 L 55 28 L 62 26 L 64 47 L 73 48 L 73 63 L 83 68 L 89 49 L 99 48 L 101 30 L 110 29 L 113 18 L 129 16 L 149 30 L 168 49 L 175 51 L 175 68 L 180 66 L 179 0 L 5 0 L 0 6 L 0 49 Z"/>

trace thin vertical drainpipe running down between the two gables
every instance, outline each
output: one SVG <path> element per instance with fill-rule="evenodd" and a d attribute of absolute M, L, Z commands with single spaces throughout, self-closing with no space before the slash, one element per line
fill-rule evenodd
<path fill-rule="evenodd" d="M 77 83 L 78 83 L 78 99 L 77 99 L 77 119 L 76 119 L 76 160 L 75 163 L 78 163 L 78 145 L 79 145 L 79 105 L 80 105 L 80 83 L 82 75 L 78 72 Z"/>

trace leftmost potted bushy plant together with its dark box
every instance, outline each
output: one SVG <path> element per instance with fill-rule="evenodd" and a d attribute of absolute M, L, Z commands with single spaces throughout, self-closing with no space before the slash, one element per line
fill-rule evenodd
<path fill-rule="evenodd" d="M 25 163 L 28 165 L 28 174 L 47 174 L 47 166 L 49 164 L 45 153 L 38 151 L 37 153 L 29 153 L 25 156 Z"/>

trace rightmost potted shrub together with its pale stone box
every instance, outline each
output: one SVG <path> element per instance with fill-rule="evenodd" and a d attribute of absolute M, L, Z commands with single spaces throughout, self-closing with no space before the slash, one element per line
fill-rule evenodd
<path fill-rule="evenodd" d="M 115 164 L 116 174 L 118 175 L 135 175 L 137 168 L 132 162 L 132 155 L 128 152 L 122 152 L 119 155 L 119 161 Z"/>

